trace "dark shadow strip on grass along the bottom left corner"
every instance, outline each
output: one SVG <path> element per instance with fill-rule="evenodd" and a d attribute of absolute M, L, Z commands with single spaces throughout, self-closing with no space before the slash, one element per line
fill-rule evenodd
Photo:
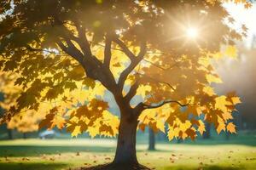
<path fill-rule="evenodd" d="M 55 170 L 67 168 L 67 166 L 64 163 L 0 162 L 0 169 L 3 170 Z"/>

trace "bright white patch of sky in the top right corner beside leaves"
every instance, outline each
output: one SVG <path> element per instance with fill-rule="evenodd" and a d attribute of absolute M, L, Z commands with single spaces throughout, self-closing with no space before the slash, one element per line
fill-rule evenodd
<path fill-rule="evenodd" d="M 241 4 L 226 3 L 224 7 L 236 20 L 236 28 L 245 24 L 248 28 L 245 43 L 249 45 L 252 41 L 253 35 L 256 36 L 256 3 L 253 3 L 252 8 L 244 8 Z"/>

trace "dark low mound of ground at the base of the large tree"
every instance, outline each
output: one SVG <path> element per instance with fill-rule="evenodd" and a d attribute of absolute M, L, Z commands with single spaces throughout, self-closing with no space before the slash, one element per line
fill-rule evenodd
<path fill-rule="evenodd" d="M 115 164 L 115 163 L 108 163 L 108 164 L 98 165 L 95 167 L 80 167 L 79 169 L 80 170 L 150 170 L 150 168 L 145 167 L 141 164 L 127 165 L 127 164 Z"/>

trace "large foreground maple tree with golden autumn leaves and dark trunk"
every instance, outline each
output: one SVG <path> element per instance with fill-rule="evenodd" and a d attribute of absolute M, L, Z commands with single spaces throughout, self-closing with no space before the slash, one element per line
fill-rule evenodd
<path fill-rule="evenodd" d="M 1 68 L 15 71 L 23 89 L 2 122 L 47 103 L 40 127 L 118 134 L 112 168 L 139 166 L 137 127 L 164 132 L 167 122 L 170 140 L 195 139 L 205 130 L 203 115 L 218 133 L 236 132 L 229 121 L 240 99 L 214 93 L 211 83 L 221 80 L 210 60 L 245 32 L 225 25 L 233 20 L 221 2 L 15 0 L 0 10 Z M 202 38 L 188 32 L 193 26 Z M 108 111 L 105 91 L 119 118 Z"/>

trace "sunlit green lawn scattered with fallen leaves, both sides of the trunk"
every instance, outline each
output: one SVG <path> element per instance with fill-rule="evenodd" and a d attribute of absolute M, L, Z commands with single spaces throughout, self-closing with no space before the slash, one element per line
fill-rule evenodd
<path fill-rule="evenodd" d="M 256 169 L 256 146 L 243 144 L 137 144 L 138 160 L 156 169 Z M 0 169 L 61 170 L 113 159 L 112 139 L 17 139 L 0 141 Z"/>

